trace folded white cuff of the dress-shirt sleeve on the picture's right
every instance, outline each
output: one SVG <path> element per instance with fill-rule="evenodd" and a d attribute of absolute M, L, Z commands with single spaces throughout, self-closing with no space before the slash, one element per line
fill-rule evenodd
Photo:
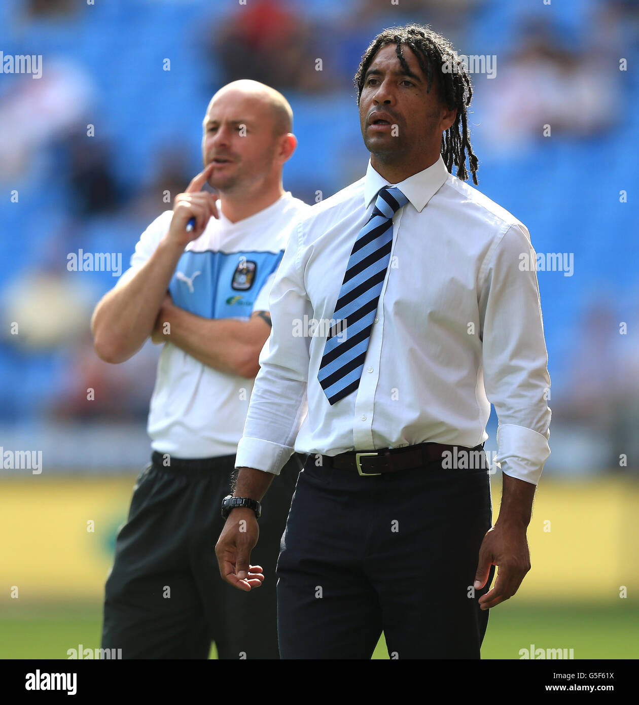
<path fill-rule="evenodd" d="M 537 431 L 515 424 L 497 429 L 495 461 L 501 465 L 501 472 L 536 485 L 549 455 L 548 439 Z"/>

